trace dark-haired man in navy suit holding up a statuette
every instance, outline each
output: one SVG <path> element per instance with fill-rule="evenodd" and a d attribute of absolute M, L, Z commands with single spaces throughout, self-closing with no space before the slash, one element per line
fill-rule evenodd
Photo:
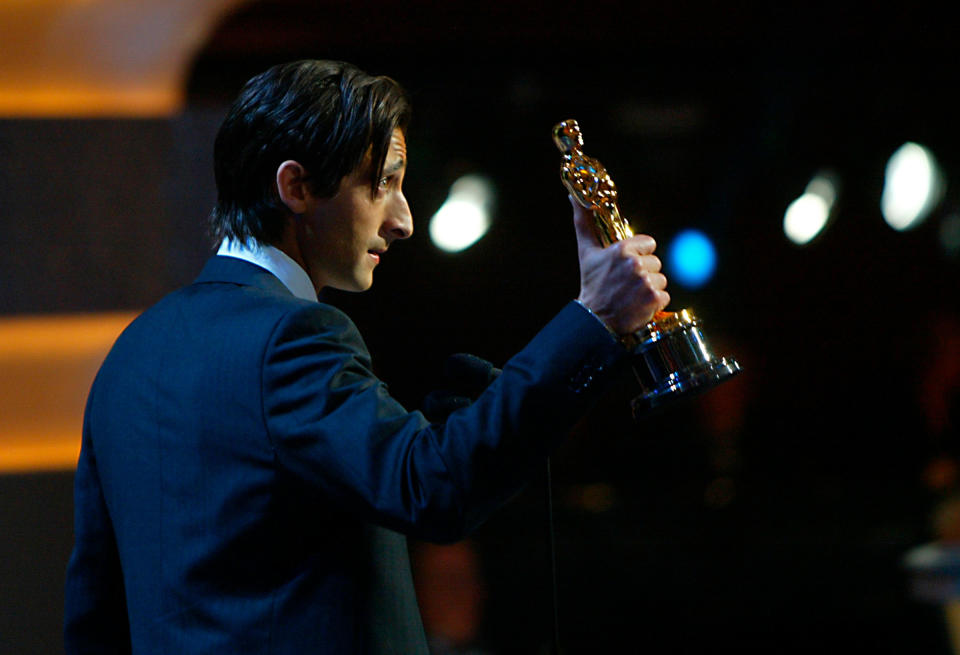
<path fill-rule="evenodd" d="M 468 407 L 408 412 L 323 287 L 364 290 L 412 232 L 407 101 L 338 62 L 244 87 L 215 145 L 222 240 L 120 336 L 90 392 L 66 643 L 77 653 L 425 653 L 405 535 L 469 533 L 527 480 L 666 305 L 649 237 Z"/>

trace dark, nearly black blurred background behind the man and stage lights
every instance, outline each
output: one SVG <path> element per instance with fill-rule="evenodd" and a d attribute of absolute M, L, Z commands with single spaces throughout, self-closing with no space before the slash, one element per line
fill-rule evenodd
<path fill-rule="evenodd" d="M 744 373 L 639 423 L 624 379 L 553 458 L 566 652 L 947 653 L 902 557 L 937 536 L 953 492 L 924 472 L 953 461 L 957 415 L 931 423 L 923 400 L 933 388 L 956 407 L 955 380 L 925 383 L 960 309 L 957 256 L 938 241 L 960 202 L 950 24 L 917 5 L 630 7 L 254 2 L 198 54 L 177 117 L 0 121 L 0 312 L 137 309 L 188 282 L 210 252 L 227 103 L 273 63 L 344 59 L 411 93 L 418 234 L 372 291 L 327 300 L 416 407 L 447 354 L 500 364 L 576 294 L 550 129 L 577 118 L 662 251 L 686 227 L 714 238 L 716 277 L 672 286 L 672 307 L 695 309 Z M 879 197 L 907 140 L 948 186 L 895 233 Z M 841 180 L 833 221 L 796 247 L 783 212 L 824 168 Z M 495 223 L 446 255 L 427 222 L 467 172 L 495 182 Z M 71 480 L 0 477 L 3 652 L 61 650 Z M 549 640 L 545 497 L 539 479 L 471 542 L 491 652 Z"/>

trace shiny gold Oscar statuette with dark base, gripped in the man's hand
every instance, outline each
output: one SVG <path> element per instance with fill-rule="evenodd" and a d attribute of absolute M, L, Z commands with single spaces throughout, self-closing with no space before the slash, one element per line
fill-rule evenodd
<path fill-rule="evenodd" d="M 617 187 L 603 164 L 583 154 L 577 121 L 553 128 L 553 141 L 563 155 L 560 178 L 570 195 L 593 212 L 600 243 L 609 246 L 633 236 L 620 215 Z M 708 389 L 740 372 L 731 357 L 715 357 L 693 312 L 657 312 L 654 320 L 625 339 L 636 357 L 634 372 L 643 393 L 634 398 L 635 418 L 688 393 Z"/>

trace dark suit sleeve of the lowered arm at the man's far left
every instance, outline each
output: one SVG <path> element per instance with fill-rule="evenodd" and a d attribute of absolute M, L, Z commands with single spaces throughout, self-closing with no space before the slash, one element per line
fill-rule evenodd
<path fill-rule="evenodd" d="M 91 397 L 92 397 L 91 393 Z M 67 655 L 131 652 L 123 574 L 90 440 L 90 403 L 74 479 L 74 549 L 67 566 Z"/>

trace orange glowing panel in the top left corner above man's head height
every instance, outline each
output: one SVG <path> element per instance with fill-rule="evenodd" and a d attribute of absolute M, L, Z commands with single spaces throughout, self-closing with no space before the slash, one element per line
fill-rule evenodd
<path fill-rule="evenodd" d="M 196 52 L 244 1 L 0 2 L 0 117 L 176 114 Z"/>

